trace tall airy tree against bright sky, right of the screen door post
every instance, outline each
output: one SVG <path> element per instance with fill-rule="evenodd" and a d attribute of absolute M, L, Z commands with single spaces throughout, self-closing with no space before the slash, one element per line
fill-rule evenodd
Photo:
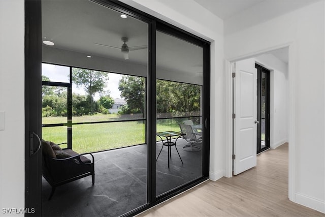
<path fill-rule="evenodd" d="M 89 114 L 93 114 L 96 110 L 96 103 L 93 101 L 93 96 L 96 92 L 103 92 L 105 83 L 109 79 L 107 72 L 88 70 L 88 69 L 72 69 L 72 81 L 79 86 L 83 86 L 84 90 L 87 92 L 87 101 L 89 108 Z"/>

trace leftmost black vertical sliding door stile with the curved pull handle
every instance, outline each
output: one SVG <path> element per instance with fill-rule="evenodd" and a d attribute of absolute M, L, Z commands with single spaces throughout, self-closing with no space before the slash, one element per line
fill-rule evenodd
<path fill-rule="evenodd" d="M 42 212 L 41 1 L 25 1 L 25 216 Z"/>

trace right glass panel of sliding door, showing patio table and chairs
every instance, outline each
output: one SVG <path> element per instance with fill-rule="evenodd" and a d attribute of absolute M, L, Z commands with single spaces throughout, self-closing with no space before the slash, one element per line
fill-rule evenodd
<path fill-rule="evenodd" d="M 202 177 L 203 48 L 156 32 L 156 196 Z"/>

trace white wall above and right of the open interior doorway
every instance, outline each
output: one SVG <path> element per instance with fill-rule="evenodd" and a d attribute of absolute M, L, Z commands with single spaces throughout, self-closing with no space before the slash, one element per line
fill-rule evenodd
<path fill-rule="evenodd" d="M 258 7 L 267 9 L 270 2 Z M 225 21 L 231 29 L 224 36 L 225 58 L 289 45 L 289 199 L 325 212 L 325 2 L 269 20 L 254 12 L 253 7 Z M 242 28 L 252 17 L 254 23 Z"/>

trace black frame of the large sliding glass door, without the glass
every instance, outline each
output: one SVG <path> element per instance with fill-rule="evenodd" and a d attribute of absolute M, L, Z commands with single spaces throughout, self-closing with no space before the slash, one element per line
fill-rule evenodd
<path fill-rule="evenodd" d="M 209 138 L 210 138 L 210 42 L 201 39 L 193 34 L 190 34 L 186 32 L 183 29 L 180 29 L 178 27 L 175 27 L 165 21 L 159 20 L 149 14 L 146 14 L 144 12 L 141 12 L 137 9 L 134 9 L 124 3 L 118 2 L 118 1 L 104 1 L 104 0 L 91 0 L 92 2 L 101 4 L 103 6 L 109 7 L 113 10 L 119 11 L 123 14 L 132 16 L 136 19 L 139 19 L 141 21 L 144 21 L 148 24 L 148 74 L 146 79 L 146 136 L 147 136 L 147 153 L 148 153 L 148 161 L 147 161 L 147 204 L 144 206 L 141 206 L 131 212 L 128 212 L 124 214 L 124 216 L 134 216 L 152 206 L 157 205 L 158 203 L 161 203 L 181 192 L 184 192 L 195 185 L 203 182 L 204 180 L 207 180 L 209 178 Z M 39 118 L 37 125 L 38 125 L 38 134 L 41 134 L 42 132 L 42 118 L 41 118 L 41 89 L 42 89 L 42 79 L 41 79 L 41 63 L 42 63 L 42 31 L 41 31 L 41 1 L 27 1 L 25 0 L 25 5 L 38 5 L 37 7 L 26 7 L 25 8 L 25 16 L 26 19 L 27 16 L 34 16 L 34 21 L 36 23 L 30 23 L 26 24 L 26 37 L 25 41 L 30 42 L 34 41 L 37 42 L 37 47 L 31 48 L 30 46 L 26 46 L 26 76 L 31 74 L 30 69 L 27 73 L 27 65 L 29 67 L 31 66 L 38 66 L 37 68 L 37 81 L 39 81 L 36 85 L 31 86 L 29 85 L 28 88 L 30 89 L 38 89 L 39 95 L 38 95 L 38 101 L 39 101 L 39 110 L 35 115 L 37 115 L 37 118 Z M 76 3 L 77 4 L 77 3 Z M 28 26 L 29 25 L 29 26 Z M 33 29 L 34 27 L 37 27 L 36 29 Z M 33 32 L 31 32 L 32 30 Z M 199 177 L 187 184 L 182 185 L 181 187 L 174 189 L 170 191 L 167 194 L 164 194 L 163 196 L 156 197 L 156 30 L 159 30 L 161 32 L 176 36 L 180 39 L 183 39 L 187 42 L 190 42 L 192 44 L 196 44 L 203 48 L 203 88 L 202 88 L 202 121 L 203 121 L 203 128 L 204 128 L 204 134 L 203 139 L 205 141 L 205 146 L 202 148 L 202 177 Z M 28 52 L 31 51 L 31 52 Z M 36 56 L 38 58 L 32 58 L 33 56 Z M 26 78 L 26 85 L 30 80 Z M 34 82 L 32 82 L 34 84 Z M 25 87 L 27 88 L 27 87 Z M 69 88 L 69 87 L 68 87 Z M 70 87 L 71 88 L 71 87 Z M 31 99 L 32 95 L 31 92 L 27 92 L 26 90 L 26 96 L 25 98 L 27 101 Z M 71 100 L 71 99 L 68 99 Z M 37 104 L 38 105 L 38 104 Z M 31 104 L 26 104 L 25 113 L 28 111 L 29 113 L 32 113 L 30 111 L 31 108 L 34 108 L 31 106 Z M 26 113 L 26 115 L 28 115 Z M 72 114 L 68 114 L 69 116 L 72 116 Z M 29 118 L 30 119 L 30 118 Z M 25 123 L 29 123 L 29 119 L 25 120 Z M 68 123 L 69 124 L 69 123 Z M 26 128 L 26 130 L 29 128 Z M 26 136 L 25 145 L 26 147 L 29 145 L 28 138 Z M 71 138 L 68 139 L 71 142 Z M 41 151 L 40 151 L 41 152 Z M 26 154 L 28 153 L 28 150 L 26 148 Z M 27 157 L 27 155 L 26 155 Z M 39 160 L 41 160 L 41 153 L 39 154 Z M 38 190 L 41 190 L 41 164 L 38 165 L 38 167 L 33 167 L 34 164 L 29 164 L 26 161 L 26 192 L 29 191 L 28 183 L 34 183 L 35 186 L 38 187 Z M 37 175 L 30 174 L 28 171 L 35 170 L 37 168 Z M 28 183 L 27 183 L 28 182 Z M 31 205 L 27 204 L 29 201 L 39 201 L 41 202 L 40 194 L 27 194 L 25 197 L 25 203 L 26 208 L 30 207 Z M 41 204 L 39 204 L 40 210 L 38 210 L 38 216 L 41 215 Z"/>

